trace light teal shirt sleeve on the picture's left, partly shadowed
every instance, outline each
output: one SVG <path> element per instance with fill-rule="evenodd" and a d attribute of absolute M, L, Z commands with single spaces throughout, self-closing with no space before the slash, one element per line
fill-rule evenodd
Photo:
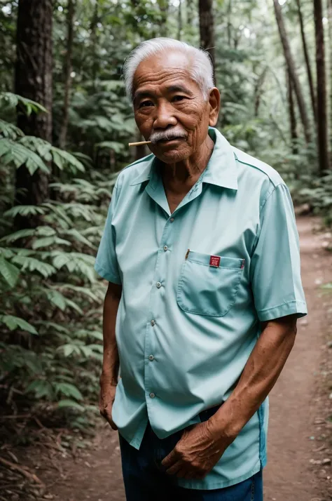
<path fill-rule="evenodd" d="M 99 244 L 95 270 L 103 279 L 112 283 L 121 284 L 118 260 L 116 258 L 116 234 L 112 225 L 113 214 L 117 201 L 117 185 L 113 189 L 111 203 L 106 218 L 104 233 Z"/>

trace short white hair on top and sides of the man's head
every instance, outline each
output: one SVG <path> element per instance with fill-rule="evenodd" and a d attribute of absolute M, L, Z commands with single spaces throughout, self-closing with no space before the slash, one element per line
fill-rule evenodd
<path fill-rule="evenodd" d="M 198 83 L 207 99 L 209 90 L 214 86 L 213 66 L 209 53 L 186 42 L 164 37 L 141 42 L 125 60 L 123 76 L 128 98 L 132 99 L 134 74 L 139 64 L 151 55 L 169 51 L 179 51 L 188 57 L 188 61 L 191 62 L 189 68 L 191 78 Z"/>

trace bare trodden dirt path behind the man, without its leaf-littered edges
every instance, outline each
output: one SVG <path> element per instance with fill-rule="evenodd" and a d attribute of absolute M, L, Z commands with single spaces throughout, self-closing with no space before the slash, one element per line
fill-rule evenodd
<path fill-rule="evenodd" d="M 310 436 L 317 416 L 315 371 L 328 326 L 324 299 L 319 298 L 317 288 L 319 281 L 332 281 L 332 255 L 321 249 L 321 237 L 312 234 L 313 224 L 310 218 L 298 219 L 303 283 L 310 314 L 299 322 L 296 347 L 270 396 L 265 501 L 323 501 L 317 475 L 310 465 L 312 450 L 317 448 Z M 89 453 L 78 455 L 76 460 L 63 459 L 58 469 L 57 479 L 54 470 L 53 479 L 47 478 L 47 470 L 42 476 L 48 486 L 55 482 L 48 489 L 55 500 L 125 500 L 117 436 L 108 427 L 99 432 Z"/>

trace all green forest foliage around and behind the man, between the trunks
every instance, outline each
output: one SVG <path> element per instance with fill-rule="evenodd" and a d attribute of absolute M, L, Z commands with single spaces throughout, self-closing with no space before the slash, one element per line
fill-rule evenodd
<path fill-rule="evenodd" d="M 8 0 L 0 8 L 1 392 L 6 399 L 15 388 L 29 405 L 55 403 L 57 411 L 77 427 L 84 425 L 90 404 L 97 400 L 102 359 L 104 287 L 93 271 L 94 256 L 116 173 L 135 154 L 127 147 L 137 130 L 125 98 L 123 61 L 141 40 L 153 36 L 180 34 L 200 45 L 198 3 L 182 0 L 180 33 L 178 4 L 75 2 L 65 150 L 59 145 L 68 53 L 67 0 L 55 2 L 53 11 L 52 145 L 25 135 L 16 125 L 18 113 L 31 116 L 46 109 L 12 93 L 18 2 Z M 216 83 L 222 96 L 219 128 L 233 145 L 277 168 L 294 200 L 309 203 L 332 225 L 331 174 L 317 176 L 317 147 L 301 139 L 297 108 L 298 139 L 290 138 L 284 56 L 272 3 L 215 0 L 214 9 Z M 303 9 L 310 20 L 312 7 L 305 3 Z M 287 26 L 293 27 L 297 20 L 293 3 L 287 1 L 283 11 Z M 312 57 L 311 25 L 307 22 L 305 29 Z M 298 67 L 304 67 L 298 29 L 292 33 L 292 51 Z M 304 71 L 300 83 L 309 102 Z M 48 175 L 48 200 L 38 205 L 16 203 L 15 176 L 22 166 L 30 175 L 39 171 Z M 34 224 L 20 229 L 20 218 Z"/>

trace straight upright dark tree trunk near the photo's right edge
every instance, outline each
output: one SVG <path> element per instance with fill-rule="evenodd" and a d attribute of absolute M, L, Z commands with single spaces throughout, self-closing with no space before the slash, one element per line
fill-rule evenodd
<path fill-rule="evenodd" d="M 317 70 L 317 139 L 319 155 L 319 173 L 328 170 L 327 143 L 327 103 L 326 74 L 324 51 L 324 26 L 321 0 L 314 0 L 314 31 L 316 34 L 316 70 Z"/>

